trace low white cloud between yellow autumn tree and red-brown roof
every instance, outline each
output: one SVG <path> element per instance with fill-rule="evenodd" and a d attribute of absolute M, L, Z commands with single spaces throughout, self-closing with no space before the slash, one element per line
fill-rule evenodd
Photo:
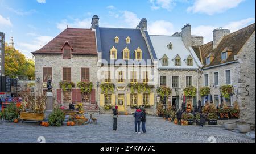
<path fill-rule="evenodd" d="M 29 35 L 29 34 L 28 34 Z M 28 42 L 18 42 L 16 48 L 19 49 L 26 57 L 31 58 L 31 52 L 39 50 L 44 45 L 46 45 L 49 41 L 51 41 L 54 37 L 52 36 L 39 36 L 33 34 L 31 36 L 36 36 L 31 43 Z"/>

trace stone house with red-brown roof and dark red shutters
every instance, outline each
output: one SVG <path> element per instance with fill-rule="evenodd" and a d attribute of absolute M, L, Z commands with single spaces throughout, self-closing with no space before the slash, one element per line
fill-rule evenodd
<path fill-rule="evenodd" d="M 35 56 L 35 93 L 47 91 L 52 80 L 55 102 L 68 106 L 84 102 L 87 110 L 96 109 L 97 50 L 92 29 L 67 28 L 43 48 L 32 52 Z M 91 92 L 81 92 L 78 82 L 92 82 Z M 60 87 L 60 82 L 75 85 L 72 89 Z"/>

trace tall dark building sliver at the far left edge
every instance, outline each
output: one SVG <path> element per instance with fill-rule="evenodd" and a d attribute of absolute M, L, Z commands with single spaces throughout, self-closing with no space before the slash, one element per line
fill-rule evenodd
<path fill-rule="evenodd" d="M 5 76 L 5 33 L 0 32 L 0 76 Z"/>

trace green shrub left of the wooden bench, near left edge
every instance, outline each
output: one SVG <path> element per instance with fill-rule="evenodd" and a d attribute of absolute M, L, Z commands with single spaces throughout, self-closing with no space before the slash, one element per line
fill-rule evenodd
<path fill-rule="evenodd" d="M 19 108 L 17 108 L 16 104 L 8 104 L 1 117 L 9 122 L 14 121 L 19 117 Z"/>

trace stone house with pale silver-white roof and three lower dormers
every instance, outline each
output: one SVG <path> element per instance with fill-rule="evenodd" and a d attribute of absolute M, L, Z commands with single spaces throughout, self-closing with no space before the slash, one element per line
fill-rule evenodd
<path fill-rule="evenodd" d="M 185 109 L 188 101 L 197 105 L 197 98 L 184 97 L 186 87 L 198 89 L 199 69 L 202 66 L 191 46 L 203 45 L 202 36 L 191 35 L 191 25 L 187 24 L 180 33 L 172 36 L 150 35 L 152 45 L 158 58 L 158 85 L 171 88 L 171 96 L 164 96 L 162 100 L 171 103 L 176 109 Z"/>

